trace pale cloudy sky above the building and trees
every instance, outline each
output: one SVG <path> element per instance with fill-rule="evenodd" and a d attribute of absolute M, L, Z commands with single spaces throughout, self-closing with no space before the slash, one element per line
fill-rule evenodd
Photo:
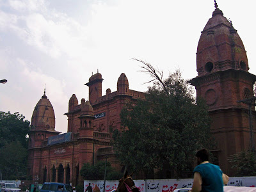
<path fill-rule="evenodd" d="M 244 43 L 256 74 L 255 0 L 217 0 L 218 8 Z M 147 91 L 146 61 L 164 77 L 180 69 L 196 72 L 201 31 L 214 0 L 0 0 L 0 111 L 19 112 L 31 121 L 44 95 L 51 101 L 56 131 L 67 132 L 68 100 L 88 100 L 88 79 L 99 70 L 106 89 L 116 91 L 123 72 L 129 88 Z"/>

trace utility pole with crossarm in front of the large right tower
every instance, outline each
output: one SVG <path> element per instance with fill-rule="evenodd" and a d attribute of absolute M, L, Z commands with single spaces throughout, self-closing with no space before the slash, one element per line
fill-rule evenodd
<path fill-rule="evenodd" d="M 250 147 L 252 152 L 255 154 L 255 143 L 254 143 L 254 131 L 253 131 L 253 124 L 252 124 L 252 106 L 256 106 L 255 104 L 256 97 L 251 97 L 248 99 L 238 100 L 237 102 L 243 102 L 244 104 L 248 105 L 248 112 L 249 112 L 249 124 L 250 124 Z"/>

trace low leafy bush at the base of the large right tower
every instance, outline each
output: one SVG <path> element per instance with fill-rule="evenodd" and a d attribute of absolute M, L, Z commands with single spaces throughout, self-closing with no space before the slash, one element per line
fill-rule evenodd
<path fill-rule="evenodd" d="M 242 150 L 230 156 L 228 160 L 232 163 L 232 168 L 236 168 L 237 176 L 256 175 L 256 159 L 251 150 Z"/>

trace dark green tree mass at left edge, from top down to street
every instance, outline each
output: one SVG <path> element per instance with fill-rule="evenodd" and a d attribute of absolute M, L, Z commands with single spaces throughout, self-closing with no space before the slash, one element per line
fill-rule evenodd
<path fill-rule="evenodd" d="M 18 112 L 0 112 L 0 170 L 3 179 L 26 176 L 29 124 Z"/>

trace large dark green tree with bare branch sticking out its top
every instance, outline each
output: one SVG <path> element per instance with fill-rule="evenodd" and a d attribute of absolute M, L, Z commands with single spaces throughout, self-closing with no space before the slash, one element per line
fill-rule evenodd
<path fill-rule="evenodd" d="M 179 70 L 163 80 L 163 72 L 143 64 L 157 81 L 148 87 L 145 99 L 127 102 L 122 109 L 122 131 L 113 132 L 116 157 L 134 172 L 143 170 L 146 177 L 154 168 L 182 177 L 193 168 L 196 150 L 212 146 L 207 105 L 193 97 Z"/>

